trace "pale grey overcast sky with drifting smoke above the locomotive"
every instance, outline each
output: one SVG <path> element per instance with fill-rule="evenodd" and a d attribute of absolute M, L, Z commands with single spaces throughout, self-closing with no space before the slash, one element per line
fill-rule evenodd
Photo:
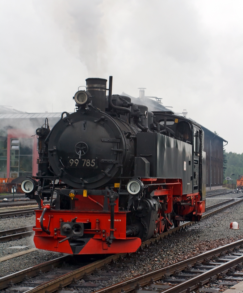
<path fill-rule="evenodd" d="M 72 112 L 88 77 L 162 98 L 243 152 L 243 2 L 0 0 L 0 105 Z M 108 87 L 108 83 L 107 83 Z"/>

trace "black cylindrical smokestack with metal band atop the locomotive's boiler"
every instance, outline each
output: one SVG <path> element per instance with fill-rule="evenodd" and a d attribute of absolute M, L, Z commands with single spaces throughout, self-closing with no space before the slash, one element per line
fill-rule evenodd
<path fill-rule="evenodd" d="M 103 78 L 87 78 L 87 92 L 91 94 L 92 105 L 102 112 L 106 110 L 106 79 Z"/>

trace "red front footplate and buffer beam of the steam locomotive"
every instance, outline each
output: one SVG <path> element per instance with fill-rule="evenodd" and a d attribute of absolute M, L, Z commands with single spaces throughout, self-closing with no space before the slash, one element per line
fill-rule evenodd
<path fill-rule="evenodd" d="M 69 254 L 115 254 L 135 252 L 141 245 L 140 238 L 126 237 L 128 212 L 115 212 L 115 239 L 108 246 L 106 239 L 109 239 L 111 223 L 109 211 L 47 210 L 44 214 L 43 226 L 45 229 L 49 227 L 50 235 L 40 227 L 42 211 L 36 210 L 36 226 L 33 227 L 36 232 L 34 236 L 36 248 Z M 61 235 L 61 222 L 70 222 L 75 217 L 76 223 L 84 223 L 84 236 L 65 240 L 66 236 Z"/>

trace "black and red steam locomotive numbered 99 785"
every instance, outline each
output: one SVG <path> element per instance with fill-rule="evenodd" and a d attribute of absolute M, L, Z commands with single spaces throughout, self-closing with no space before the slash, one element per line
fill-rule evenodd
<path fill-rule="evenodd" d="M 73 97 L 75 112 L 63 112 L 51 130 L 47 120 L 36 130 L 38 172 L 21 188 L 39 204 L 39 249 L 130 253 L 205 211 L 201 127 L 112 95 L 112 76 L 106 84 L 86 79 L 86 90 Z"/>

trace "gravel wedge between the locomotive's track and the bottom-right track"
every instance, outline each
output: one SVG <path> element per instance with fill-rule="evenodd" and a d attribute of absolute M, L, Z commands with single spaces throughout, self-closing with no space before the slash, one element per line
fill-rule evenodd
<path fill-rule="evenodd" d="M 238 222 L 239 230 L 229 228 L 232 221 Z M 122 264 L 119 269 L 123 270 L 119 270 L 119 275 L 111 276 L 111 279 L 106 282 L 100 281 L 100 286 L 95 290 L 79 289 L 75 286 L 73 288 L 82 293 L 93 292 L 242 238 L 243 203 L 240 203 L 224 210 L 222 213 L 193 224 L 185 231 L 162 239 L 162 248 L 156 250 L 156 247 L 153 246 L 151 251 L 145 250 L 146 258 L 142 261 L 137 257 L 132 260 L 130 265 Z M 107 266 L 107 269 L 109 272 L 113 272 L 111 266 Z M 80 282 L 84 283 L 85 281 L 80 280 Z M 222 287 L 220 291 L 225 289 L 227 289 L 227 286 Z"/>

